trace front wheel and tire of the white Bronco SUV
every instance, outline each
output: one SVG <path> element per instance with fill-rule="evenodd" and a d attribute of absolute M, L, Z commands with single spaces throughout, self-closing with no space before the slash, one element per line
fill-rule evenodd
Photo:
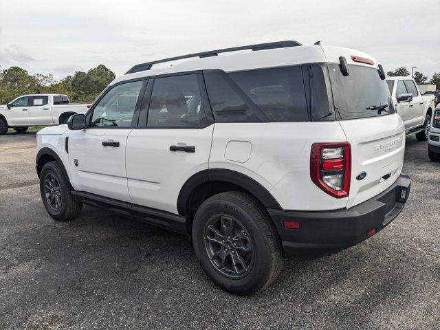
<path fill-rule="evenodd" d="M 40 175 L 41 199 L 47 213 L 56 221 L 72 220 L 83 208 L 83 204 L 72 196 L 71 190 L 69 180 L 58 163 L 47 162 Z"/>

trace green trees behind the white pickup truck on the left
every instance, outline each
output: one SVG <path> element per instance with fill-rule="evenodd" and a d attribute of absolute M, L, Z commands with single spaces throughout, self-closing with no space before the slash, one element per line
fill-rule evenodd
<path fill-rule="evenodd" d="M 55 80 L 52 74 L 29 74 L 21 67 L 0 69 L 0 104 L 24 94 L 67 94 L 71 102 L 93 102 L 115 74 L 105 65 Z"/>

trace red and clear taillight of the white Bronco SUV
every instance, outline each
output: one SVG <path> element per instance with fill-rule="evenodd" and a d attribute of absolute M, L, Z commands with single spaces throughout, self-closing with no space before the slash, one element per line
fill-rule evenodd
<path fill-rule="evenodd" d="M 350 176 L 351 148 L 348 142 L 311 145 L 310 177 L 316 186 L 333 197 L 347 197 Z"/>

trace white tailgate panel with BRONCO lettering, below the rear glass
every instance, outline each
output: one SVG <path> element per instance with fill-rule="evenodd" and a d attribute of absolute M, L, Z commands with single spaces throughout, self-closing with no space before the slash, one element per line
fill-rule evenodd
<path fill-rule="evenodd" d="M 347 203 L 351 208 L 380 194 L 399 177 L 404 164 L 405 130 L 397 114 L 341 120 L 339 124 L 351 144 Z"/>

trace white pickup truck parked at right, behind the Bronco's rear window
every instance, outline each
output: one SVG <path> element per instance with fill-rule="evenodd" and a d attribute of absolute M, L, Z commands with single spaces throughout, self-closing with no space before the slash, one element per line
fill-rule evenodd
<path fill-rule="evenodd" d="M 404 120 L 406 135 L 415 134 L 417 140 L 428 140 L 434 96 L 421 95 L 419 87 L 411 77 L 386 78 L 391 98 L 397 113 Z"/>

